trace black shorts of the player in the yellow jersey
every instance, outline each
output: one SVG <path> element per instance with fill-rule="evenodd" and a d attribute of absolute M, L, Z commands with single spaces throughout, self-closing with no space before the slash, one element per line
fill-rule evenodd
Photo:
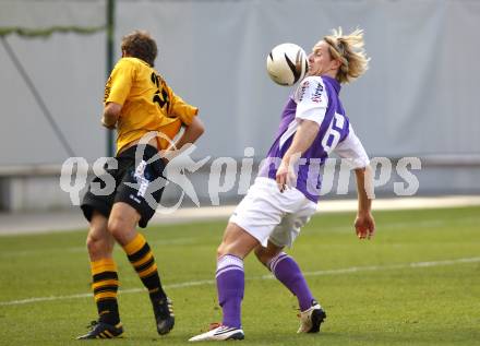
<path fill-rule="evenodd" d="M 135 162 L 136 151 L 139 158 Z M 108 218 L 113 204 L 123 202 L 139 212 L 139 226 L 145 228 L 155 214 L 166 184 L 164 160 L 157 157 L 148 162 L 156 154 L 157 150 L 152 145 L 134 145 L 115 157 L 118 163 L 116 169 L 108 168 L 107 163 L 106 174 L 91 181 L 83 198 L 81 208 L 86 219 L 92 219 L 93 211 Z M 111 192 L 106 189 L 107 183 Z"/>

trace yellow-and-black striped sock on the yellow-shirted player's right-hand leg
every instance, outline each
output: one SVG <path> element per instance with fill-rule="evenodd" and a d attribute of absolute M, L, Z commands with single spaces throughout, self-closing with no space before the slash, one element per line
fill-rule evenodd
<path fill-rule="evenodd" d="M 166 294 L 160 284 L 157 263 L 145 238 L 137 234 L 136 237 L 123 247 L 130 263 L 139 274 L 143 285 L 148 289 L 152 299 L 161 299 Z"/>

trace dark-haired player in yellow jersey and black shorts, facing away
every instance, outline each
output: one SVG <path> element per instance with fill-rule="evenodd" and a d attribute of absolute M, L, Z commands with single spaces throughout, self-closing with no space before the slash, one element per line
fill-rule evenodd
<path fill-rule="evenodd" d="M 147 33 L 135 31 L 124 36 L 121 49 L 122 58 L 105 87 L 101 119 L 106 128 L 117 128 L 117 165 L 106 166 L 106 176 L 92 181 L 81 205 L 91 225 L 86 244 L 99 318 L 80 339 L 112 338 L 123 333 L 117 303 L 119 281 L 112 258 L 116 242 L 148 289 L 158 333 L 167 334 L 173 327 L 171 301 L 161 287 L 157 264 L 145 238 L 135 228 L 146 227 L 155 213 L 156 205 L 145 194 L 152 195 L 156 203 L 160 201 L 163 189 L 152 183 L 163 177 L 166 165 L 158 152 L 166 154 L 181 148 L 195 142 L 204 131 L 195 117 L 197 108 L 177 96 L 153 69 L 157 46 Z M 169 145 L 182 127 L 182 135 L 175 145 Z M 157 135 L 147 143 L 141 141 L 152 131 Z M 108 182 L 115 182 L 111 187 L 115 189 L 106 194 Z"/>

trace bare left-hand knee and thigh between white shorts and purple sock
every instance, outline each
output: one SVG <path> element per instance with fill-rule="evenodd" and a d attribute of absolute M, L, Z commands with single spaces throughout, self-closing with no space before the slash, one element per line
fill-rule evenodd
<path fill-rule="evenodd" d="M 257 244 L 259 240 L 237 224 L 228 223 L 224 238 L 217 250 L 217 256 L 232 254 L 245 258 Z"/>

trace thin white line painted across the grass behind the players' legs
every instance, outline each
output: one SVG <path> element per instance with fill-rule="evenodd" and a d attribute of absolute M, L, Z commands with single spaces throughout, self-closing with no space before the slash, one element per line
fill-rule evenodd
<path fill-rule="evenodd" d="M 351 266 L 351 267 L 338 269 L 338 270 L 304 272 L 303 275 L 304 276 L 338 275 L 338 274 L 350 274 L 350 273 L 359 273 L 359 272 L 379 272 L 379 271 L 388 271 L 388 270 L 431 267 L 431 266 L 454 265 L 454 264 L 477 263 L 477 262 L 480 262 L 480 258 L 466 258 L 466 259 L 431 261 L 431 262 L 413 262 L 413 263 L 392 264 L 392 265 Z M 248 281 L 273 279 L 273 278 L 275 278 L 273 275 L 247 277 Z M 165 288 L 183 288 L 183 287 L 193 287 L 193 286 L 203 286 L 203 285 L 214 285 L 215 283 L 216 283 L 215 279 L 202 279 L 195 282 L 165 285 Z M 144 288 L 132 288 L 132 289 L 121 290 L 120 294 L 135 294 L 140 291 L 146 291 L 146 290 Z M 0 301 L 0 307 L 19 306 L 19 305 L 40 302 L 40 301 L 51 301 L 51 300 L 89 298 L 89 297 L 92 297 L 92 294 L 36 297 L 36 298 L 27 298 L 21 300 Z"/>

